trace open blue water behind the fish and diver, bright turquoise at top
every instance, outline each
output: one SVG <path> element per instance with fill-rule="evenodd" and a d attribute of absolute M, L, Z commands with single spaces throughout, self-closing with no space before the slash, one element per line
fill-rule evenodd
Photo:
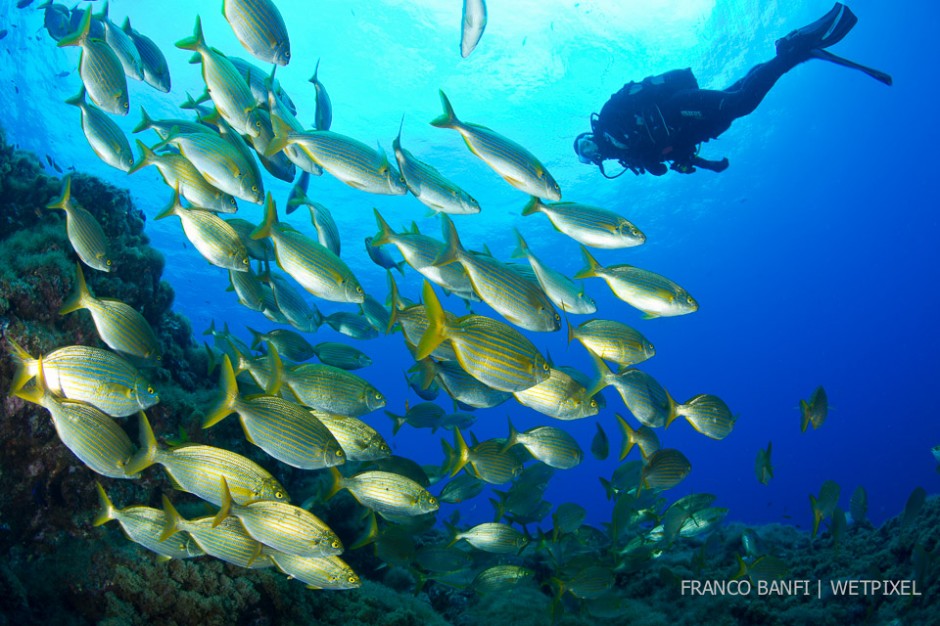
<path fill-rule="evenodd" d="M 131 190 L 151 218 L 147 232 L 166 256 L 164 278 L 176 289 L 176 308 L 197 331 L 212 320 L 227 321 L 247 340 L 246 326 L 272 328 L 225 291 L 223 270 L 183 245 L 178 220 L 152 221 L 170 197 L 154 168 L 128 177 L 93 154 L 79 111 L 63 102 L 80 85 L 78 51 L 56 49 L 39 30 L 41 13 L 14 4 L 4 0 L 0 6 L 0 24 L 9 31 L 0 41 L 0 111 L 9 140 Z M 173 79 L 170 94 L 129 81 L 131 114 L 117 120 L 125 131 L 139 120 L 140 105 L 154 118 L 179 117 L 185 93 L 202 91 L 199 67 L 187 63 L 188 52 L 173 47 L 191 33 L 197 11 L 210 45 L 248 57 L 220 15 L 220 4 L 111 3 L 113 20 L 130 15 L 134 27 L 158 43 Z M 312 125 L 314 91 L 306 81 L 319 58 L 319 77 L 333 101 L 333 130 L 389 151 L 404 115 L 405 148 L 483 207 L 480 215 L 455 219 L 469 248 L 486 244 L 506 259 L 515 247 L 515 226 L 555 268 L 570 275 L 582 266 L 577 245 L 543 216 L 521 217 L 527 200 L 521 192 L 470 154 L 455 132 L 428 125 L 440 113 L 438 89 L 447 92 L 461 119 L 487 125 L 536 154 L 559 181 L 565 200 L 617 210 L 647 234 L 640 248 L 597 256 L 604 264 L 635 264 L 674 279 L 695 296 L 700 310 L 642 320 L 603 282 L 591 279 L 586 286 L 598 302 L 597 316 L 622 320 L 647 335 L 657 355 L 643 369 L 675 398 L 716 394 L 740 416 L 723 441 L 707 439 L 684 420 L 660 432 L 664 446 L 679 448 L 693 465 L 667 497 L 714 493 L 732 519 L 806 527 L 807 496 L 827 479 L 842 486 L 843 508 L 852 490 L 864 486 L 875 523 L 896 514 L 915 487 L 940 490 L 930 454 L 940 444 L 940 131 L 932 78 L 940 54 L 930 45 L 940 10 L 927 2 L 907 3 L 903 11 L 884 2 L 852 3 L 859 24 L 834 51 L 893 74 L 893 87 L 823 62 L 807 63 L 783 77 L 755 113 L 704 147 L 706 158 L 730 159 L 723 174 L 627 173 L 608 181 L 578 163 L 571 142 L 588 130 L 588 115 L 624 82 L 691 67 L 702 87 L 722 88 L 768 59 L 776 38 L 815 20 L 831 4 L 491 0 L 486 32 L 468 59 L 459 55 L 460 5 L 280 0 L 293 58 L 277 76 L 300 108 L 298 118 Z M 61 72 L 68 75 L 58 77 Z M 151 133 L 143 138 L 155 142 Z M 265 187 L 283 206 L 289 185 L 268 176 Z M 313 179 L 309 195 L 330 208 L 342 234 L 343 258 L 380 300 L 386 294 L 384 272 L 362 248 L 376 230 L 372 208 L 396 228 L 415 220 L 424 232 L 438 229 L 438 220 L 427 217 L 411 196 L 369 195 L 329 175 Z M 260 220 L 260 207 L 240 205 L 239 217 Z M 306 212 L 286 219 L 312 232 Z M 417 298 L 421 283 L 415 272 L 409 270 L 400 284 Z M 352 310 L 318 304 L 324 312 Z M 455 298 L 444 306 L 465 310 Z M 482 305 L 474 310 L 488 312 Z M 589 367 L 583 348 L 566 346 L 563 332 L 533 339 L 556 363 Z M 311 340 L 345 339 L 324 326 Z M 406 400 L 418 401 L 402 382 L 411 361 L 400 334 L 355 345 L 373 357 L 375 364 L 359 373 L 386 395 L 387 408 L 400 413 Z M 799 400 L 818 385 L 829 395 L 829 419 L 801 434 Z M 478 411 L 473 430 L 480 439 L 503 436 L 507 414 L 519 429 L 550 424 L 569 430 L 585 449 L 585 461 L 557 472 L 546 497 L 556 504 L 578 502 L 588 509 L 589 521 L 600 524 L 609 520 L 611 505 L 597 478 L 610 476 L 616 458 L 597 462 L 588 449 L 600 420 L 612 450 L 618 450 L 612 413 L 627 413 L 612 389 L 606 396 L 608 409 L 597 418 L 561 423 L 510 402 Z M 391 422 L 381 412 L 367 419 L 398 454 L 425 464 L 442 460 L 440 434 L 406 426 L 392 437 Z M 763 486 L 755 478 L 754 459 L 768 441 L 775 478 Z M 630 458 L 638 458 L 637 452 Z M 481 496 L 464 505 L 462 514 L 482 521 L 492 510 Z"/>

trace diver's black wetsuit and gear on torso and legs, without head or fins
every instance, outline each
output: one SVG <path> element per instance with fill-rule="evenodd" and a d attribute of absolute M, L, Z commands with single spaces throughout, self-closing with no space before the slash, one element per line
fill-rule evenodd
<path fill-rule="evenodd" d="M 694 166 L 722 171 L 728 160 L 700 158 L 699 144 L 756 109 L 777 80 L 806 58 L 776 56 L 722 91 L 699 89 L 689 69 L 628 83 L 601 109 L 594 141 L 603 159 L 618 160 L 637 173 L 660 176 L 666 163 L 679 172 L 692 172 Z"/>

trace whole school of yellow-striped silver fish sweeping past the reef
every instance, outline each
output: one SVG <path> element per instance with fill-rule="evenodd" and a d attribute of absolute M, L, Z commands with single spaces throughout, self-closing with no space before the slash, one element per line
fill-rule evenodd
<path fill-rule="evenodd" d="M 374 544 L 379 558 L 409 568 L 419 587 L 435 581 L 488 594 L 538 584 L 551 590 L 555 609 L 564 606 L 567 595 L 597 615 L 620 606 L 614 591 L 618 573 L 643 567 L 679 537 L 707 532 L 727 513 L 713 506 L 709 494 L 666 504 L 663 491 L 678 485 L 692 466 L 681 451 L 662 447 L 657 431 L 682 417 L 706 437 L 720 440 L 732 432 L 737 417 L 714 395 L 677 402 L 639 369 L 656 355 L 639 330 L 603 318 L 569 321 L 569 316 L 598 313 L 594 299 L 536 256 L 518 231 L 514 257 L 523 262 L 501 260 L 488 249 L 468 249 L 450 215 L 478 214 L 478 202 L 407 150 L 401 130 L 392 142 L 394 161 L 370 147 L 371 139 L 330 130 L 333 103 L 318 78 L 319 61 L 310 79 L 316 124 L 305 128 L 273 69 L 263 69 L 292 61 L 288 25 L 274 2 L 224 0 L 222 5 L 224 19 L 253 61 L 213 47 L 196 16 L 192 35 L 176 45 L 193 53 L 206 92 L 198 99 L 187 96 L 180 107 L 195 117 L 152 119 L 141 107 L 134 132 L 152 130 L 156 136 L 149 145 L 138 139 L 136 155 L 111 116 L 131 111 L 128 78 L 171 92 L 162 51 L 129 19 L 123 27 L 112 22 L 106 4 L 97 14 L 53 2 L 39 8 L 59 46 L 81 49 L 82 88 L 66 102 L 80 109 L 93 152 L 130 174 L 155 166 L 168 198 L 157 219 L 179 218 L 199 254 L 225 270 L 219 280 L 228 281 L 238 301 L 285 326 L 267 333 L 249 329 L 251 346 L 231 334 L 227 324 L 217 328 L 213 323 L 206 331 L 219 383 L 216 401 L 205 407 L 203 428 L 237 415 L 247 441 L 267 453 L 271 465 L 277 461 L 317 472 L 324 489 L 307 502 L 292 502 L 268 470 L 241 455 L 196 443 L 160 443 L 145 414 L 159 402 L 159 391 L 145 373 L 160 364 L 159 341 L 139 312 L 86 286 L 87 269 L 114 268 L 100 225 L 72 196 L 66 176 L 60 197 L 48 208 L 65 212 L 80 263 L 74 292 L 60 312 L 87 309 L 110 349 L 64 346 L 34 357 L 13 343 L 17 372 L 12 392 L 45 407 L 62 442 L 97 474 L 133 478 L 158 465 L 173 487 L 218 507 L 215 515 L 199 519 L 181 517 L 167 498 L 162 510 L 117 508 L 99 484 L 95 524 L 116 520 L 132 541 L 161 558 L 208 555 L 244 568 L 276 567 L 316 589 L 358 587 L 359 576 L 341 555 L 344 549 Z M 463 57 L 480 42 L 486 21 L 483 0 L 464 1 Z M 439 95 L 443 113 L 431 124 L 457 131 L 475 156 L 524 194 L 522 215 L 541 213 L 562 236 L 580 244 L 585 268 L 575 279 L 603 279 L 617 298 L 647 318 L 698 309 L 695 298 L 665 276 L 627 264 L 600 264 L 589 248 L 629 248 L 644 244 L 646 236 L 613 211 L 561 201 L 561 187 L 533 154 L 486 126 L 458 118 L 447 95 Z M 265 191 L 265 172 L 294 183 L 280 208 Z M 440 214 L 442 233 L 436 238 L 415 225 L 396 231 L 375 211 L 377 232 L 366 239 L 365 252 L 387 270 L 387 294 L 364 291 L 340 256 L 351 251 L 341 250 L 330 210 L 308 197 L 310 177 L 324 175 L 367 193 L 410 193 Z M 240 203 L 262 205 L 261 223 L 232 217 Z M 299 208 L 309 211 L 313 235 L 282 221 Z M 392 250 L 403 260 L 396 261 Z M 402 294 L 393 276 L 406 268 L 423 278 L 418 301 Z M 468 304 L 483 302 L 495 317 L 448 311 L 438 292 Z M 323 315 L 306 294 L 320 304 L 355 310 Z M 450 431 L 441 441 L 445 458 L 440 466 L 392 456 L 366 421 L 385 408 L 385 396 L 354 373 L 372 358 L 345 343 L 311 344 L 305 335 L 324 323 L 358 340 L 401 331 L 414 357 L 404 382 L 421 402 L 406 404 L 401 414 L 386 413 L 394 433 Z M 569 343 L 577 340 L 587 350 L 594 371 L 556 365 L 527 336 L 557 332 L 565 323 Z M 319 362 L 308 362 L 314 357 Z M 626 410 L 607 405 L 601 391 L 609 386 Z M 434 402 L 442 392 L 454 411 Z M 510 399 L 557 423 L 519 431 L 510 420 L 505 437 L 477 441 L 471 433 L 468 442 L 464 433 L 476 421 L 474 411 Z M 810 401 L 801 401 L 801 408 L 802 429 L 819 428 L 827 413 L 822 388 Z M 602 412 L 616 421 L 623 442 L 615 452 L 618 469 L 600 479 L 614 501 L 605 530 L 585 525 L 582 507 L 543 499 L 553 473 L 577 466 L 584 456 L 564 422 Z M 118 421 L 132 417 L 139 421 L 136 445 Z M 627 461 L 634 448 L 640 458 Z M 600 421 L 590 451 L 597 459 L 610 454 Z M 940 460 L 937 448 L 933 453 Z M 755 462 L 763 484 L 773 477 L 770 454 L 768 443 Z M 486 485 L 508 485 L 494 490 L 493 522 L 461 527 L 459 515 L 451 515 L 444 522 L 448 541 L 416 547 L 414 538 L 435 525 L 438 513 L 479 496 Z M 362 537 L 339 537 L 309 510 L 343 490 L 368 513 Z M 838 496 L 831 481 L 811 496 L 814 535 L 824 518 L 838 515 Z M 853 516 L 864 516 L 865 506 L 863 491 L 853 496 Z M 744 540 L 738 575 L 785 575 L 779 559 L 754 552 L 755 541 Z"/>

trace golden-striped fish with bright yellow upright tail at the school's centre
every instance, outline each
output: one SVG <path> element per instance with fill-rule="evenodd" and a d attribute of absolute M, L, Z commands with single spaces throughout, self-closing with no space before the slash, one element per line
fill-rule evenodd
<path fill-rule="evenodd" d="M 428 329 L 418 344 L 418 360 L 449 340 L 460 366 L 493 389 L 522 391 L 551 376 L 545 357 L 516 329 L 482 315 L 448 321 L 430 283 L 424 283 L 422 293 Z"/>

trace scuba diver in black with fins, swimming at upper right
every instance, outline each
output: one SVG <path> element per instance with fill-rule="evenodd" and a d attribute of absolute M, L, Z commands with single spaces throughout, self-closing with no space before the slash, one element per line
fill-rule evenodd
<path fill-rule="evenodd" d="M 612 95 L 600 115 L 591 114 L 591 132 L 574 141 L 582 163 L 594 163 L 607 178 L 627 170 L 662 176 L 669 169 L 691 174 L 696 167 L 722 172 L 728 159 L 699 156 L 703 142 L 715 139 L 731 123 L 757 108 L 781 76 L 810 59 L 822 59 L 865 72 L 886 85 L 891 77 L 825 50 L 841 41 L 858 18 L 841 3 L 819 20 L 776 42 L 777 54 L 753 67 L 725 90 L 699 89 L 692 70 L 673 70 L 630 82 Z M 623 170 L 610 175 L 604 161 L 616 160 Z M 667 163 L 669 166 L 667 168 Z"/>

